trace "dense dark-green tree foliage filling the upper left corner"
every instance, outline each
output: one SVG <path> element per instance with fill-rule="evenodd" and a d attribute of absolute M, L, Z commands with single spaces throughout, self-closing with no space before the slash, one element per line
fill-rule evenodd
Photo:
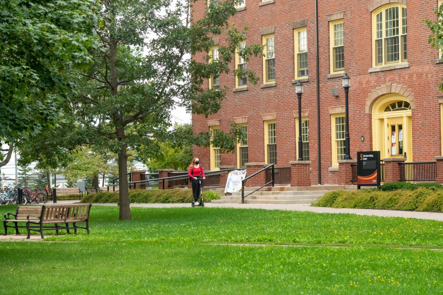
<path fill-rule="evenodd" d="M 98 22 L 94 0 L 0 0 L 0 143 L 56 125 L 69 90 L 64 70 L 89 66 Z"/>

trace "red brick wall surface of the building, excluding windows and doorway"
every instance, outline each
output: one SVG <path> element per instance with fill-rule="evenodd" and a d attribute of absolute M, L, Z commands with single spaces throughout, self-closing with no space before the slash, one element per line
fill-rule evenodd
<path fill-rule="evenodd" d="M 313 173 L 312 184 L 318 183 L 317 139 L 320 135 L 321 183 L 337 183 L 340 178 L 331 167 L 331 119 L 329 107 L 344 106 L 345 95 L 341 77 L 328 78 L 329 74 L 329 23 L 327 15 L 344 11 L 345 71 L 351 78 L 349 90 L 349 134 L 350 155 L 357 151 L 372 150 L 372 114 L 365 110 L 366 99 L 374 89 L 386 83 L 404 85 L 414 95 L 415 109 L 412 110 L 412 157 L 413 161 L 430 161 L 441 155 L 440 107 L 437 99 L 438 83 L 443 73 L 443 63 L 436 63 L 438 53 L 427 43 L 429 30 L 423 19 L 433 19 L 432 7 L 437 0 L 408 1 L 408 62 L 409 67 L 369 73 L 372 68 L 372 0 L 321 1 L 319 5 L 319 83 L 320 114 L 317 133 L 316 104 L 316 24 L 315 7 L 312 0 L 282 1 L 259 5 L 259 0 L 247 0 L 246 9 L 239 11 L 232 22 L 241 29 L 249 27 L 247 44 L 262 43 L 260 29 L 275 26 L 276 87 L 260 88 L 263 83 L 262 59 L 248 62 L 248 69 L 255 70 L 260 81 L 253 86 L 248 83 L 247 91 L 233 92 L 235 77 L 232 73 L 221 75 L 221 87 L 227 86 L 227 97 L 219 113 L 204 118 L 193 116 L 194 132 L 207 131 L 207 121 L 221 119 L 221 130 L 229 129 L 229 121 L 248 117 L 249 162 L 264 162 L 264 128 L 262 114 L 277 113 L 277 166 L 288 167 L 296 157 L 295 119 L 297 96 L 294 80 L 294 35 L 292 22 L 307 20 L 308 31 L 308 77 L 304 82 L 302 110 L 309 116 L 310 161 Z M 206 9 L 206 1 L 197 1 L 192 9 L 195 19 Z M 223 36 L 220 45 L 225 44 Z M 202 54 L 194 56 L 201 60 Z M 232 70 L 234 62 L 232 62 Z M 339 88 L 339 96 L 332 96 L 331 89 Z M 426 130 L 426 132 L 423 132 Z M 365 141 L 360 137 L 364 135 Z M 209 148 L 193 149 L 209 168 Z M 206 163 L 206 164 L 205 164 Z M 221 165 L 236 165 L 236 154 L 221 155 Z M 249 174 L 249 171 L 248 171 Z"/>

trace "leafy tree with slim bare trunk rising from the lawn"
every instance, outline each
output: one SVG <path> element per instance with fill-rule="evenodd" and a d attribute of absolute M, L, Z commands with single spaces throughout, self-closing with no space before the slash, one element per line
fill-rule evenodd
<path fill-rule="evenodd" d="M 228 25 L 236 12 L 233 0 L 214 2 L 198 21 L 191 19 L 187 0 L 100 4 L 103 21 L 96 32 L 101 46 L 92 51 L 95 62 L 90 68 L 71 72 L 77 95 L 70 109 L 84 139 L 118 154 L 120 219 L 131 219 L 127 150 L 143 146 L 145 155 L 158 153 L 158 143 L 171 137 L 170 110 L 177 105 L 205 116 L 220 110 L 227 88 L 207 89 L 207 79 L 230 71 L 244 31 Z M 227 45 L 220 46 L 219 59 L 209 63 L 207 53 L 217 35 L 226 37 Z M 261 54 L 260 45 L 241 52 L 246 60 Z M 235 73 L 257 82 L 252 71 Z M 78 76 L 83 79 L 75 79 Z M 234 142 L 239 129 L 220 132 L 224 139 L 219 142 Z M 208 145 L 210 136 L 198 139 L 198 144 Z"/>

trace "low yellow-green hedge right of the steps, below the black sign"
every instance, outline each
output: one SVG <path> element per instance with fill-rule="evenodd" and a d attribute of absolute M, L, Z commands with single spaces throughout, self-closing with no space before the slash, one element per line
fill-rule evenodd
<path fill-rule="evenodd" d="M 412 211 L 443 211 L 443 189 L 417 187 L 413 190 L 331 191 L 312 206 L 334 208 L 374 208 Z"/>

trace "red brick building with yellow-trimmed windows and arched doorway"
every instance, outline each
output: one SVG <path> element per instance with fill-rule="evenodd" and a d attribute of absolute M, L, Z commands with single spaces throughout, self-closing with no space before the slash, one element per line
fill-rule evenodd
<path fill-rule="evenodd" d="M 253 86 L 232 73 L 211 79 L 208 87 L 229 87 L 227 97 L 218 114 L 193 116 L 192 124 L 197 133 L 227 131 L 235 121 L 246 126 L 248 141 L 236 153 L 194 147 L 194 155 L 208 170 L 246 162 L 289 167 L 298 158 L 294 85 L 300 80 L 303 160 L 310 161 L 311 183 L 338 183 L 338 161 L 345 154 L 342 77 L 347 73 L 350 156 L 380 150 L 381 158 L 433 161 L 442 155 L 438 85 L 443 59 L 428 44 L 430 31 L 422 20 L 435 19 L 438 2 L 318 1 L 316 14 L 312 0 L 246 0 L 231 21 L 249 27 L 246 44 L 265 45 L 265 57 L 246 64 L 260 81 Z M 194 18 L 206 9 L 205 1 L 194 3 Z M 225 40 L 218 36 L 214 41 L 217 55 Z M 245 64 L 237 57 L 232 70 L 240 66 Z"/>

